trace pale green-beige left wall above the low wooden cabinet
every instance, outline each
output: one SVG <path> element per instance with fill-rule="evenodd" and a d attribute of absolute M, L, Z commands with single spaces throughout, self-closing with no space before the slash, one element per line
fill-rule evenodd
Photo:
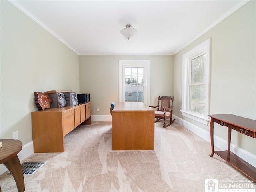
<path fill-rule="evenodd" d="M 1 3 L 1 138 L 32 141 L 34 92 L 79 92 L 79 56 L 8 1 Z"/>

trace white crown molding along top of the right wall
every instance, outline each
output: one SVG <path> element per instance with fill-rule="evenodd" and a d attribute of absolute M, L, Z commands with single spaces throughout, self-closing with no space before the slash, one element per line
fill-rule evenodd
<path fill-rule="evenodd" d="M 213 22 L 210 26 L 208 26 L 206 29 L 204 29 L 202 32 L 200 32 L 197 36 L 195 36 L 193 39 L 188 41 L 186 44 L 184 44 L 182 47 L 180 47 L 176 52 L 174 52 L 173 55 L 180 52 L 182 49 L 184 49 L 186 46 L 188 46 L 190 43 L 198 39 L 200 36 L 208 32 L 211 28 L 216 26 L 218 23 L 220 23 L 222 20 L 230 16 L 232 13 L 234 13 L 236 10 L 238 10 L 240 7 L 242 7 L 244 4 L 249 2 L 250 0 L 241 0 L 238 4 L 236 4 L 233 8 L 231 8 L 228 12 L 226 12 L 224 15 L 222 15 L 220 18 L 218 18 L 215 22 Z"/>

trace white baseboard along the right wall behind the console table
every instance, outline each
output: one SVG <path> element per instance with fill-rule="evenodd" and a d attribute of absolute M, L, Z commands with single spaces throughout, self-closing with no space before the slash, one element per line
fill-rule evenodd
<path fill-rule="evenodd" d="M 176 123 L 182 125 L 184 128 L 190 130 L 194 134 L 200 136 L 204 140 L 208 141 L 210 143 L 210 127 L 209 132 L 206 130 L 203 130 L 202 128 L 195 126 L 194 124 L 187 122 L 186 120 L 179 118 L 178 116 L 173 115 L 173 118 L 175 118 Z M 216 148 L 219 148 L 220 150 L 227 150 L 228 149 L 228 141 L 218 137 L 214 136 L 214 146 Z M 248 151 L 239 148 L 238 146 L 234 144 L 230 144 L 230 151 L 232 151 L 234 154 L 251 164 L 252 166 L 256 167 L 256 156 L 254 154 L 249 153 Z M 209 151 L 210 154 L 210 151 Z"/>

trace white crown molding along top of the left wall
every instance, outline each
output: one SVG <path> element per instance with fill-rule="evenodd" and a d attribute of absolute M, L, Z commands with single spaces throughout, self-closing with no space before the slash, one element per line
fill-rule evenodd
<path fill-rule="evenodd" d="M 19 10 L 21 10 L 24 14 L 26 14 L 28 17 L 30 17 L 32 20 L 34 20 L 37 24 L 39 24 L 42 28 L 44 28 L 46 31 L 48 31 L 50 34 L 52 34 L 54 37 L 56 37 L 60 42 L 62 42 L 64 45 L 66 45 L 68 48 L 70 48 L 72 51 L 74 51 L 76 54 L 80 55 L 80 53 L 75 50 L 70 44 L 68 44 L 66 41 L 64 41 L 60 36 L 58 36 L 54 31 L 52 31 L 48 26 L 46 26 L 43 22 L 41 22 L 38 18 L 36 18 L 33 14 L 31 14 L 28 10 L 26 10 L 21 4 L 19 4 L 16 0 L 8 0 L 11 4 L 16 6 Z"/>

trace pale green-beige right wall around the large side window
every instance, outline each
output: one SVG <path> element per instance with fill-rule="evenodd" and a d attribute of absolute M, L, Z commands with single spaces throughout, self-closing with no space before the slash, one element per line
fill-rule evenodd
<path fill-rule="evenodd" d="M 234 114 L 256 119 L 255 1 L 250 1 L 200 38 L 174 55 L 174 114 L 209 131 L 209 126 L 182 117 L 182 55 L 211 39 L 210 114 Z M 227 140 L 227 129 L 214 126 L 216 136 Z M 232 132 L 231 142 L 256 154 L 256 140 Z"/>

